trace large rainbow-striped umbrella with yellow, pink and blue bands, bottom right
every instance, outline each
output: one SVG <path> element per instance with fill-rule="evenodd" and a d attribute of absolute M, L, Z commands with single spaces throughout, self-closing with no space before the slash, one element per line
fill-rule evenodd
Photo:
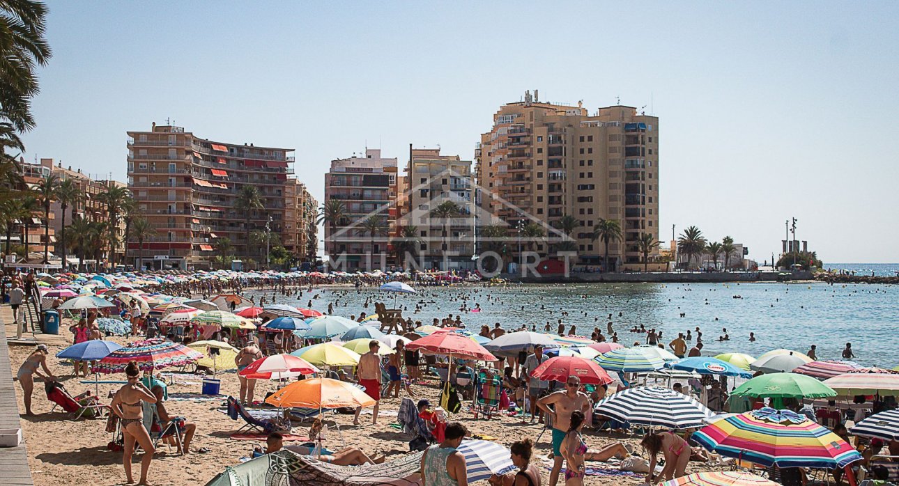
<path fill-rule="evenodd" d="M 720 455 L 765 466 L 834 469 L 862 458 L 840 436 L 805 416 L 767 407 L 715 420 L 692 437 Z"/>

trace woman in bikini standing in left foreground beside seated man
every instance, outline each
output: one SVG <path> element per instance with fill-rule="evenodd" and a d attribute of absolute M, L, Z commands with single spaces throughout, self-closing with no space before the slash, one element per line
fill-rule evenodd
<path fill-rule="evenodd" d="M 115 397 L 112 398 L 112 412 L 121 420 L 122 435 L 125 437 L 125 453 L 122 455 L 122 464 L 125 466 L 125 478 L 128 483 L 134 482 L 131 477 L 131 455 L 134 454 L 134 444 L 137 442 L 144 449 L 144 457 L 140 463 L 140 484 L 147 483 L 147 472 L 150 469 L 150 461 L 153 460 L 153 441 L 147 429 L 144 429 L 144 411 L 141 402 L 156 403 L 156 395 L 147 390 L 140 383 L 138 363 L 131 361 L 125 367 L 125 375 L 128 376 L 128 384 L 122 386 Z"/>

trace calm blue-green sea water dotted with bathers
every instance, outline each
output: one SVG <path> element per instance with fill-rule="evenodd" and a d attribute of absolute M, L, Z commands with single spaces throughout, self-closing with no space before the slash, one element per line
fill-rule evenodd
<path fill-rule="evenodd" d="M 848 264 L 831 268 L 850 268 Z M 825 267 L 827 267 L 825 265 Z M 867 267 L 868 272 L 875 265 Z M 899 265 L 892 268 L 899 270 Z M 877 271 L 877 270 L 876 270 Z M 882 270 L 889 271 L 889 270 Z M 255 292 L 257 296 L 260 293 Z M 306 306 L 326 311 L 329 302 L 339 298 L 334 314 L 350 317 L 374 312 L 364 308 L 366 297 L 383 299 L 392 306 L 394 295 L 379 295 L 378 290 L 316 289 L 297 297 L 279 296 L 279 303 Z M 268 294 L 271 298 L 271 293 Z M 487 296 L 491 299 L 488 300 Z M 544 325 L 562 319 L 565 330 L 577 326 L 579 334 L 590 335 L 594 326 L 606 333 L 612 323 L 619 342 L 629 346 L 645 340 L 645 334 L 631 333 L 636 324 L 664 332 L 665 343 L 679 331 L 702 331 L 703 355 L 735 351 L 759 356 L 770 349 L 787 348 L 806 352 L 816 344 L 818 358 L 840 358 L 846 342 L 852 343 L 856 360 L 869 366 L 899 365 L 899 287 L 877 285 L 829 286 L 823 283 L 743 283 L 743 284 L 566 284 L 512 285 L 508 287 L 420 287 L 419 294 L 399 296 L 404 315 L 430 324 L 434 317 L 460 314 L 468 329 L 477 331 L 482 324 L 503 328 L 521 323 Z M 496 300 L 498 299 L 498 301 Z M 372 299 L 372 302 L 374 299 Z M 481 306 L 480 313 L 460 312 L 463 303 Z M 415 305 L 422 311 L 414 313 Z M 545 307 L 545 308 L 541 308 Z M 562 316 L 562 311 L 567 316 Z M 619 316 L 619 313 L 621 314 Z M 681 313 L 685 316 L 681 317 Z M 727 329 L 730 340 L 717 342 Z M 749 342 L 754 332 L 755 342 Z"/>

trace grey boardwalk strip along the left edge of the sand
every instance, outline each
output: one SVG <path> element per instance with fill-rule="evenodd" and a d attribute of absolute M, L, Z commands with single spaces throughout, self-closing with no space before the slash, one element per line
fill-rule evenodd
<path fill-rule="evenodd" d="M 6 332 L 15 327 L 6 323 L 13 321 L 13 312 L 9 305 L 0 306 L 0 429 L 21 429 L 18 400 L 15 398 L 13 371 L 9 361 L 9 346 L 6 343 Z M 13 334 L 14 337 L 14 334 Z M 18 369 L 19 363 L 16 363 Z M 38 385 L 41 385 L 40 383 Z M 28 468 L 28 452 L 22 441 L 18 447 L 0 447 L 0 483 L 4 486 L 33 485 L 31 470 Z"/>

